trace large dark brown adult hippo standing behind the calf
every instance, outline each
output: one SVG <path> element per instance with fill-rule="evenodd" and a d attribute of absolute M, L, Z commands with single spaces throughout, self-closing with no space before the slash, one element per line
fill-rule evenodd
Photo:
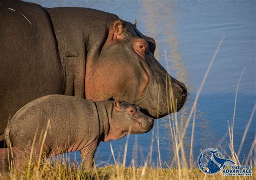
<path fill-rule="evenodd" d="M 125 100 L 153 118 L 185 103 L 185 85 L 153 55 L 154 39 L 111 13 L 2 0 L 0 39 L 0 134 L 18 109 L 45 95 Z"/>

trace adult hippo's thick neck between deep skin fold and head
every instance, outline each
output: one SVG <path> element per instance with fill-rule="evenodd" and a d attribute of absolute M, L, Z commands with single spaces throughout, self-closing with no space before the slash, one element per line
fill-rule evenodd
<path fill-rule="evenodd" d="M 65 95 L 85 98 L 85 75 L 99 57 L 116 15 L 89 8 L 45 8 L 65 71 Z M 96 12 L 97 11 L 97 12 Z"/>

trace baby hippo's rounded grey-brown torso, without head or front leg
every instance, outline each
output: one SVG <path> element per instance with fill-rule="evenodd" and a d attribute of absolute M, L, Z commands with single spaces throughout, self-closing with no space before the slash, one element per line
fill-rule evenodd
<path fill-rule="evenodd" d="M 95 139 L 100 128 L 96 105 L 91 100 L 49 95 L 23 106 L 6 131 L 14 147 L 29 148 L 35 136 L 35 147 L 40 147 L 48 123 L 45 150 L 52 154 L 79 150 L 79 146 Z"/>

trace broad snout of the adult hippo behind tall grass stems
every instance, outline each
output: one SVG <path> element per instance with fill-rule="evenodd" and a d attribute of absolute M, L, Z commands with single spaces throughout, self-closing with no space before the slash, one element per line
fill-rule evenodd
<path fill-rule="evenodd" d="M 146 97 L 139 106 L 146 114 L 153 118 L 161 118 L 172 112 L 178 112 L 183 107 L 187 89 L 185 84 L 179 82 L 161 66 L 152 53 L 147 53 L 149 66 L 147 75 L 149 84 L 146 89 Z"/>

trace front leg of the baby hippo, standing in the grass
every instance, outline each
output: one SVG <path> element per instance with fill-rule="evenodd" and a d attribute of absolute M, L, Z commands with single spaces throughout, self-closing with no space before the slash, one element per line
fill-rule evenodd
<path fill-rule="evenodd" d="M 82 163 L 85 170 L 93 168 L 93 164 L 95 162 L 94 156 L 97 146 L 98 142 L 93 142 L 91 145 L 86 146 L 80 150 Z"/>

